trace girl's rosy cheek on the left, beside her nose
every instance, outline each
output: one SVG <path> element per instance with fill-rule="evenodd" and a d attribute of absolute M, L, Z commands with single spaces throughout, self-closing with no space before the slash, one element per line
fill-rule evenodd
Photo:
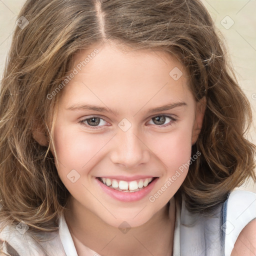
<path fill-rule="evenodd" d="M 54 131 L 54 144 L 58 160 L 57 164 L 55 158 L 55 165 L 59 178 L 67 190 L 78 198 L 84 193 L 83 185 L 86 180 L 83 177 L 95 164 L 97 152 L 105 142 L 99 136 L 58 126 Z"/>

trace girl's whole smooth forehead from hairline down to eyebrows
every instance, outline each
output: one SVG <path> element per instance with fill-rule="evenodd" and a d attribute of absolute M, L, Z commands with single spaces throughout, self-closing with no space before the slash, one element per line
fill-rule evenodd
<path fill-rule="evenodd" d="M 177 101 L 189 94 L 184 66 L 161 50 L 121 50 L 109 44 L 91 47 L 74 55 L 71 72 L 74 69 L 76 74 L 62 95 L 70 103 L 114 100 L 139 105 L 166 97 Z"/>

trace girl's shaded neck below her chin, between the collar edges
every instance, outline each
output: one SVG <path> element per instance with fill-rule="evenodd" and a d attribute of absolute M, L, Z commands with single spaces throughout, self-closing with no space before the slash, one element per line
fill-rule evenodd
<path fill-rule="evenodd" d="M 85 247 L 104 256 L 172 255 L 174 197 L 147 222 L 125 233 L 108 225 L 88 209 L 82 208 L 81 211 L 75 206 L 68 203 L 64 216 L 79 256 L 85 255 Z"/>

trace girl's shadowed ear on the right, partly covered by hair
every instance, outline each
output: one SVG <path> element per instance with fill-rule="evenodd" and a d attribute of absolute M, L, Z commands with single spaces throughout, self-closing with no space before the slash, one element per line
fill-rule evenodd
<path fill-rule="evenodd" d="M 202 97 L 199 101 L 196 102 L 195 118 L 194 118 L 194 125 L 193 125 L 192 138 L 191 138 L 192 145 L 196 142 L 201 132 L 205 109 L 206 109 L 206 98 Z"/>

